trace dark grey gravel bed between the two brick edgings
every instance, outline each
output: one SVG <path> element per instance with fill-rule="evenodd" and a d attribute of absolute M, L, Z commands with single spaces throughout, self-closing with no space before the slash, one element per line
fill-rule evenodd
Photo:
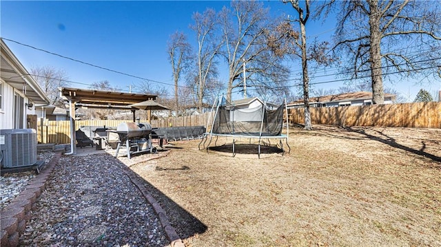
<path fill-rule="evenodd" d="M 108 154 L 62 156 L 21 246 L 170 246 L 152 206 Z"/>

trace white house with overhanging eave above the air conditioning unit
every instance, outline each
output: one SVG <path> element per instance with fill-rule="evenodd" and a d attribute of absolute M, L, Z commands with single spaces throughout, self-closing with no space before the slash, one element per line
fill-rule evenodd
<path fill-rule="evenodd" d="M 0 129 L 27 129 L 28 116 L 36 115 L 36 107 L 49 105 L 49 98 L 3 39 L 0 50 Z"/>

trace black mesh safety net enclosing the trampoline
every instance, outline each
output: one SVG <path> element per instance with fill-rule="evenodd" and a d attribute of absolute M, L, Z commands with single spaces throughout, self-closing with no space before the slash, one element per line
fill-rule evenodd
<path fill-rule="evenodd" d="M 283 128 L 283 109 L 280 105 L 271 110 L 265 105 L 255 108 L 240 109 L 221 100 L 212 133 L 241 136 L 280 136 Z"/>

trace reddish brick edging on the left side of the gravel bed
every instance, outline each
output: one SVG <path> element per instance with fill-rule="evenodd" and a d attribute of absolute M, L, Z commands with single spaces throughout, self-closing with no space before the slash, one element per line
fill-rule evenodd
<path fill-rule="evenodd" d="M 35 209 L 35 202 L 45 189 L 46 180 L 57 164 L 61 153 L 54 153 L 54 156 L 43 167 L 42 171 L 35 178 L 32 178 L 28 185 L 17 197 L 15 197 L 6 208 L 1 211 L 1 241 L 0 246 L 18 246 L 19 237 L 26 228 L 26 223 L 31 218 Z"/>

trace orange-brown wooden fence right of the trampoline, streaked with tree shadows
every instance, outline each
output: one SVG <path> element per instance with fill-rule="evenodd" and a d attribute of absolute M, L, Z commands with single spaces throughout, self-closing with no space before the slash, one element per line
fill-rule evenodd
<path fill-rule="evenodd" d="M 312 124 L 441 128 L 441 103 L 404 103 L 360 107 L 311 107 Z M 305 123 L 305 109 L 289 109 L 289 122 Z"/>

